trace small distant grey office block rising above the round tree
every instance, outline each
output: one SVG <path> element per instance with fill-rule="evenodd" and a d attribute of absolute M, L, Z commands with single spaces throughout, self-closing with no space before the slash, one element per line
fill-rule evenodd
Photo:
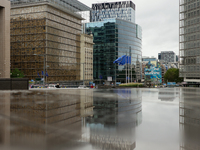
<path fill-rule="evenodd" d="M 176 54 L 173 51 L 161 51 L 161 53 L 158 53 L 158 60 L 163 63 L 175 63 Z"/>

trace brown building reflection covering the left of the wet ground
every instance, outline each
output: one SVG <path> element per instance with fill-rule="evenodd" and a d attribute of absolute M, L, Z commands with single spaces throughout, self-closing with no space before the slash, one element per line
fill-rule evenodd
<path fill-rule="evenodd" d="M 0 148 L 73 147 L 81 139 L 81 116 L 92 109 L 92 90 L 1 92 Z"/>

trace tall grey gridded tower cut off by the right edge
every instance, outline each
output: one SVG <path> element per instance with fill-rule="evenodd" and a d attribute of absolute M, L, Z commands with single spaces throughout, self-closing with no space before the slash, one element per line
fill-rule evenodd
<path fill-rule="evenodd" d="M 180 77 L 200 82 L 200 1 L 180 0 Z"/>

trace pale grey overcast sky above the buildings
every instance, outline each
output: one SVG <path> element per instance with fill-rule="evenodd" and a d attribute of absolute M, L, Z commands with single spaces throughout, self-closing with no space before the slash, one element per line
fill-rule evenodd
<path fill-rule="evenodd" d="M 79 0 L 92 3 L 120 0 Z M 160 51 L 179 51 L 179 0 L 132 0 L 136 23 L 142 27 L 142 55 L 158 57 Z"/>

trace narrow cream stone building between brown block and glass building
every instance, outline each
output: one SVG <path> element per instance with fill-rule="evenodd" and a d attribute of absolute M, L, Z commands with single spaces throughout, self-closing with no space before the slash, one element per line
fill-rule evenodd
<path fill-rule="evenodd" d="M 93 82 L 93 35 L 81 34 L 81 79 L 83 84 Z"/>

